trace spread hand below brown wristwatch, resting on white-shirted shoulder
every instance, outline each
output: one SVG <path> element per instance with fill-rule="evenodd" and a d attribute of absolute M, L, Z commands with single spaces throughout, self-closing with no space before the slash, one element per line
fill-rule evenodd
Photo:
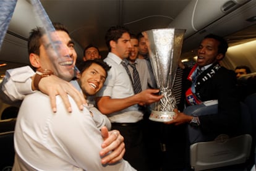
<path fill-rule="evenodd" d="M 67 94 L 69 94 L 77 103 L 77 106 L 80 110 L 83 109 L 83 105 L 87 105 L 83 94 L 74 88 L 69 82 L 62 80 L 61 78 L 51 75 L 49 77 L 41 78 L 38 84 L 39 90 L 42 93 L 45 93 L 49 96 L 51 101 L 51 107 L 53 112 L 57 111 L 56 108 L 56 96 L 60 95 L 64 104 L 67 108 L 67 111 L 72 112 L 69 99 Z"/>

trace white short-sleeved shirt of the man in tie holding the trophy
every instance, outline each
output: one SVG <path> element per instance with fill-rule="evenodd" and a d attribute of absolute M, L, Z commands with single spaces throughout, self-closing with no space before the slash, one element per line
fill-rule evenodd
<path fill-rule="evenodd" d="M 122 59 L 115 54 L 109 52 L 104 60 L 111 69 L 108 71 L 103 88 L 96 94 L 96 96 L 109 96 L 112 99 L 128 98 L 134 95 L 132 83 L 126 69 L 122 66 Z M 108 115 L 111 122 L 117 123 L 135 123 L 143 119 L 142 112 L 139 111 L 137 104 L 127 107 L 118 112 Z"/>

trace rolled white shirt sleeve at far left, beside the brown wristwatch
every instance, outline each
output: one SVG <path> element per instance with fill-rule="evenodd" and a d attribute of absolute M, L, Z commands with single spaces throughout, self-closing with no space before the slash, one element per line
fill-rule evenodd
<path fill-rule="evenodd" d="M 32 79 L 35 72 L 29 67 L 6 70 L 6 76 L 1 83 L 1 99 L 13 104 L 22 101 L 26 94 L 34 93 L 32 90 Z"/>

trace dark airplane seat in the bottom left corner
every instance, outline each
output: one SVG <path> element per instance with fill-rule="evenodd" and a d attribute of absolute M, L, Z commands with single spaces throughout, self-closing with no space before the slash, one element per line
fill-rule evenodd
<path fill-rule="evenodd" d="M 0 133 L 0 170 L 12 170 L 14 164 L 14 131 Z"/>

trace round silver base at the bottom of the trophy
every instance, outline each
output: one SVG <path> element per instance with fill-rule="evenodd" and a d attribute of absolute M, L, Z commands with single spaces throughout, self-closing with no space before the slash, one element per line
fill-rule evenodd
<path fill-rule="evenodd" d="M 152 111 L 149 119 L 155 122 L 169 122 L 174 119 L 175 112 Z"/>

